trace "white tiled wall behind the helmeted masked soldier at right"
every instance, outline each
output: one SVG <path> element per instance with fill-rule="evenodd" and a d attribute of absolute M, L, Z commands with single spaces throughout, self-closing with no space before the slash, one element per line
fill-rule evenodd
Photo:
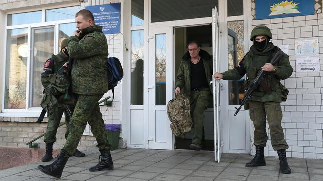
<path fill-rule="evenodd" d="M 285 139 L 289 145 L 288 157 L 323 159 L 323 104 L 322 104 L 322 75 L 323 75 L 323 14 L 321 0 L 315 0 L 314 15 L 252 20 L 251 29 L 256 25 L 265 25 L 271 29 L 274 45 L 289 45 L 289 60 L 294 72 L 282 83 L 288 88 L 287 101 L 283 102 L 282 127 Z M 252 7 L 255 7 L 252 0 Z M 254 15 L 254 9 L 252 14 Z M 319 42 L 319 72 L 295 72 L 295 40 L 318 39 Z M 267 123 L 267 133 L 270 139 Z M 252 128 L 252 142 L 253 142 Z M 277 156 L 270 146 L 265 154 Z M 255 147 L 252 147 L 254 153 Z"/>

